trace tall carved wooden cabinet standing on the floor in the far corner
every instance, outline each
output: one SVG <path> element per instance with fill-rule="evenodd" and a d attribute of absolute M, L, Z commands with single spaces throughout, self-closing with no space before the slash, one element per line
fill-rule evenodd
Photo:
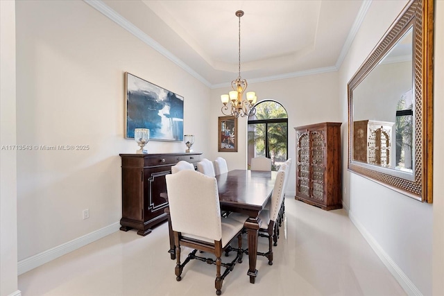
<path fill-rule="evenodd" d="M 341 123 L 296 130 L 296 200 L 321 209 L 341 209 Z"/>

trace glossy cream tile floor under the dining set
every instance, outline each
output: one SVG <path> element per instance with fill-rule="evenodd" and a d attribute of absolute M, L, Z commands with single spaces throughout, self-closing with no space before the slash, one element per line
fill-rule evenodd
<path fill-rule="evenodd" d="M 344 209 L 323 211 L 293 198 L 285 204 L 274 264 L 259 256 L 250 284 L 244 256 L 223 281 L 222 295 L 406 295 Z M 259 238 L 259 250 L 267 246 Z M 216 295 L 215 265 L 191 261 L 176 281 L 168 249 L 167 223 L 145 237 L 115 232 L 20 275 L 19 290 L 23 296 Z"/>

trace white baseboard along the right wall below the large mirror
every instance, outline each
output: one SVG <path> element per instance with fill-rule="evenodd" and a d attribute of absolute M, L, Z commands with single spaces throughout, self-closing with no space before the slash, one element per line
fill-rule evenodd
<path fill-rule="evenodd" d="M 382 263 L 386 265 L 386 268 L 388 271 L 391 272 L 393 277 L 398 281 L 398 283 L 402 286 L 402 288 L 405 290 L 407 295 L 416 295 L 416 296 L 422 296 L 422 293 L 416 286 L 412 283 L 412 281 L 405 275 L 405 273 L 402 271 L 402 269 L 398 266 L 398 264 L 391 259 L 390 256 L 384 251 L 384 249 L 377 243 L 375 238 L 367 231 L 367 229 L 362 225 L 357 218 L 353 215 L 352 211 L 348 211 L 348 217 L 350 220 L 352 220 L 352 223 L 356 226 L 356 228 L 361 232 L 362 236 L 366 239 L 370 247 L 375 251 L 377 256 L 379 256 L 379 259 L 381 259 Z"/>

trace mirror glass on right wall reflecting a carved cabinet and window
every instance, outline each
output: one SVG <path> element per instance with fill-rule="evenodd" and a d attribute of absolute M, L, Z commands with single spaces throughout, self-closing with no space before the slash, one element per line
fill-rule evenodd
<path fill-rule="evenodd" d="M 353 89 L 353 160 L 413 173 L 413 26 Z"/>

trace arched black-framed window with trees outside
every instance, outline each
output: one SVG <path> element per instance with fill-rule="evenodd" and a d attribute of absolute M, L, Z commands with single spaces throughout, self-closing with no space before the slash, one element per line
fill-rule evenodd
<path fill-rule="evenodd" d="M 253 157 L 271 158 L 271 169 L 278 171 L 288 159 L 288 116 L 276 101 L 257 103 L 256 113 L 248 118 L 248 168 Z"/>

